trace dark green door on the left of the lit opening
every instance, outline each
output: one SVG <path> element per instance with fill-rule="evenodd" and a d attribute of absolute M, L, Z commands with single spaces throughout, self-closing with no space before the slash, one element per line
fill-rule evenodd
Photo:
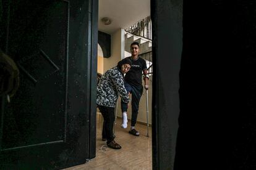
<path fill-rule="evenodd" d="M 0 47 L 20 70 L 19 90 L 1 99 L 0 169 L 95 156 L 97 13 L 98 1 L 0 0 Z"/>

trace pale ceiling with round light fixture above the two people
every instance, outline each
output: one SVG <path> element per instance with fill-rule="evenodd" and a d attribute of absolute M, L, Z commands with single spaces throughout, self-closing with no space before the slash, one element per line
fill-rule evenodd
<path fill-rule="evenodd" d="M 99 0 L 98 30 L 113 34 L 150 15 L 150 0 Z M 104 25 L 101 18 L 112 20 Z"/>

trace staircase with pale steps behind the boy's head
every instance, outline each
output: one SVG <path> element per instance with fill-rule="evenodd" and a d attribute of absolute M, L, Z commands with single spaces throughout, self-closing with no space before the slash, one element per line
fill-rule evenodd
<path fill-rule="evenodd" d="M 125 31 L 125 57 L 131 56 L 130 54 L 130 44 L 132 42 L 139 42 L 140 44 L 140 54 L 151 54 L 152 51 L 152 41 L 147 38 L 143 38 L 142 36 L 137 36 Z M 152 62 L 152 57 L 148 57 L 148 60 Z"/>

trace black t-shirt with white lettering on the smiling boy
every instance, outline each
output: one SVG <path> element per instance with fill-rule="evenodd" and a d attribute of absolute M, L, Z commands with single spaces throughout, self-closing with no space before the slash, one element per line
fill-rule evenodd
<path fill-rule="evenodd" d="M 132 60 L 132 67 L 126 73 L 124 79 L 131 85 L 139 86 L 142 84 L 142 70 L 147 69 L 146 61 L 140 57 L 137 60 L 133 60 L 132 57 L 129 57 L 129 59 Z"/>

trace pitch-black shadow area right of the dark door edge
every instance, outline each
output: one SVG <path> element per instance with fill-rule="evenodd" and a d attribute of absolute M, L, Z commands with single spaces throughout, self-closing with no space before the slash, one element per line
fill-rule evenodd
<path fill-rule="evenodd" d="M 256 169 L 255 8 L 184 1 L 174 169 Z"/>

